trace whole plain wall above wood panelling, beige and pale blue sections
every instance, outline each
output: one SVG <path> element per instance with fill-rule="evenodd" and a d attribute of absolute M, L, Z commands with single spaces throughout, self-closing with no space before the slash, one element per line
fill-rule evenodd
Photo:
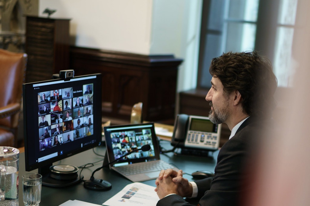
<path fill-rule="evenodd" d="M 71 45 L 136 54 L 174 54 L 178 91 L 196 87 L 201 0 L 39 0 L 39 14 L 70 18 Z"/>

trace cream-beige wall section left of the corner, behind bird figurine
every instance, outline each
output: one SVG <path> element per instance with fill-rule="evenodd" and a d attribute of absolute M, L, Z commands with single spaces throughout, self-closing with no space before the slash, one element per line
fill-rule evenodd
<path fill-rule="evenodd" d="M 40 0 L 39 14 L 56 9 L 53 18 L 69 18 L 71 44 L 149 54 L 152 1 Z"/>

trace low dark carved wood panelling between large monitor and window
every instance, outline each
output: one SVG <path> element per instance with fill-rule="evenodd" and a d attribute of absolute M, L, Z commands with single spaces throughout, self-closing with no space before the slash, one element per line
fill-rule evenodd
<path fill-rule="evenodd" d="M 102 74 L 103 117 L 128 121 L 132 106 L 142 102 L 144 121 L 173 124 L 177 74 L 182 61 L 173 55 L 70 49 L 70 68 L 75 75 Z"/>

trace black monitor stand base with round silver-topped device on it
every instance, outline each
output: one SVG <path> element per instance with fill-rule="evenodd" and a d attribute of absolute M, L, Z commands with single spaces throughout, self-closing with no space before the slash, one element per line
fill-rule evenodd
<path fill-rule="evenodd" d="M 72 165 L 47 165 L 38 169 L 42 175 L 42 185 L 48 187 L 68 187 L 82 182 L 78 168 Z"/>

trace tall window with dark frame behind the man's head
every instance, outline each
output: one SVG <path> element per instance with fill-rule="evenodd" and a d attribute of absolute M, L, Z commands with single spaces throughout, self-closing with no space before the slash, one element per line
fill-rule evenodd
<path fill-rule="evenodd" d="M 290 86 L 296 9 L 297 0 L 204 0 L 197 88 L 210 88 L 212 58 L 248 50 L 267 56 L 279 86 Z"/>

